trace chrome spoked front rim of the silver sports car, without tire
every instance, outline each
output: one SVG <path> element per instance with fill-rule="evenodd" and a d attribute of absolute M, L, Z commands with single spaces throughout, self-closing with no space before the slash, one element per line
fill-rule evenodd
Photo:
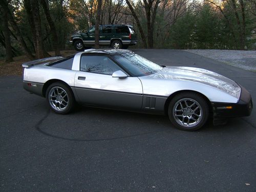
<path fill-rule="evenodd" d="M 202 107 L 194 99 L 184 98 L 174 105 L 173 116 L 177 123 L 185 127 L 195 126 L 201 121 Z"/>

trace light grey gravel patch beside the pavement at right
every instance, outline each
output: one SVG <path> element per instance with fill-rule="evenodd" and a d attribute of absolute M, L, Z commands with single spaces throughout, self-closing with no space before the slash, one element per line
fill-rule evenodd
<path fill-rule="evenodd" d="M 240 51 L 240 50 L 184 50 L 195 53 L 203 57 L 208 57 L 228 65 L 238 67 L 244 70 L 256 72 L 256 51 Z"/>

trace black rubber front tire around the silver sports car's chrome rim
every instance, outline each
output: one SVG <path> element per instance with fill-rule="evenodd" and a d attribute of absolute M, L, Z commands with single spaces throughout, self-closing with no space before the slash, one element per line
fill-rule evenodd
<path fill-rule="evenodd" d="M 180 125 L 175 120 L 175 117 L 173 114 L 173 109 L 174 109 L 175 103 L 183 98 L 194 99 L 195 101 L 197 101 L 200 104 L 200 106 L 202 108 L 201 120 L 195 126 L 185 127 L 185 126 Z M 209 106 L 208 106 L 206 100 L 201 95 L 199 95 L 197 93 L 180 93 L 180 94 L 176 95 L 174 98 L 172 98 L 172 100 L 169 102 L 168 117 L 170 119 L 170 122 L 172 122 L 180 130 L 183 130 L 183 131 L 198 130 L 206 123 L 208 116 L 209 116 Z"/>

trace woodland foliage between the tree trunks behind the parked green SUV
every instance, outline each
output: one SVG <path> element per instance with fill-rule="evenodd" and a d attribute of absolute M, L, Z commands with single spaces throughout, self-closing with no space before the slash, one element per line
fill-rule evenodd
<path fill-rule="evenodd" d="M 32 1 L 32 0 L 31 0 Z M 33 0 L 38 1 L 38 0 Z M 147 19 L 143 1 L 133 1 L 134 10 L 140 20 L 146 39 L 136 26 L 129 8 L 121 0 L 103 1 L 101 19 L 104 24 L 112 20 L 115 10 L 119 10 L 119 24 L 133 25 L 138 34 L 137 48 L 143 46 L 147 41 Z M 158 6 L 154 23 L 154 48 L 157 49 L 256 49 L 256 9 L 254 0 L 243 0 L 245 5 L 245 34 L 244 45 L 241 47 L 242 12 L 241 4 L 235 1 L 240 20 L 240 26 L 231 0 L 221 4 L 221 10 L 208 1 L 196 3 L 193 1 L 164 0 Z M 24 8 L 24 1 L 9 1 L 9 9 L 13 13 L 14 20 L 20 33 L 26 41 L 26 46 L 34 52 L 33 30 L 29 24 L 29 17 Z M 65 49 L 69 44 L 70 35 L 75 32 L 86 32 L 95 23 L 96 0 L 49 0 L 49 10 L 58 33 L 58 45 Z M 208 2 L 208 3 L 207 3 Z M 174 5 L 175 3 L 175 5 Z M 180 5 L 178 5 L 180 4 Z M 112 6 L 107 6 L 112 5 Z M 122 6 L 114 9 L 115 6 Z M 46 51 L 53 50 L 53 39 L 51 28 L 48 24 L 44 11 L 40 6 L 40 21 L 42 40 Z M 176 6 L 176 7 L 174 7 Z M 110 10 L 112 9 L 112 10 Z M 152 10 L 153 11 L 153 10 Z M 113 15 L 112 15 L 113 14 Z M 112 18 L 109 18 L 111 16 Z M 3 20 L 3 17 L 1 17 Z M 117 20 L 117 18 L 115 18 Z M 115 20 L 114 19 L 114 20 Z M 106 23 L 107 22 L 107 23 Z M 0 19 L 0 24 L 2 24 Z M 11 44 L 15 53 L 22 50 L 15 36 L 15 31 L 9 23 L 11 30 Z M 0 25 L 0 50 L 4 49 L 4 37 L 2 25 Z M 2 36 L 1 36 L 2 35 Z M 0 39 L 1 39 L 0 38 Z M 2 44 L 2 46 L 1 46 Z M 1 51 L 1 56 L 3 56 Z"/>

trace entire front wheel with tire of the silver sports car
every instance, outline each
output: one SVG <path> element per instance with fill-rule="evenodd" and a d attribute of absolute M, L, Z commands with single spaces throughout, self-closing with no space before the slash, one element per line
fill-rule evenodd
<path fill-rule="evenodd" d="M 200 94 L 180 93 L 170 101 L 168 116 L 170 122 L 178 129 L 195 131 L 206 123 L 209 116 L 209 106 Z"/>

